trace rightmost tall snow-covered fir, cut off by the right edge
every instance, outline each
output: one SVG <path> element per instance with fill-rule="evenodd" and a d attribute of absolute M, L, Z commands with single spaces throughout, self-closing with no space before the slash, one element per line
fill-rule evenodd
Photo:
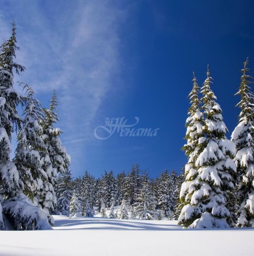
<path fill-rule="evenodd" d="M 239 122 L 231 140 L 236 145 L 235 164 L 238 177 L 238 227 L 250 227 L 254 224 L 254 94 L 250 91 L 253 79 L 247 68 L 248 58 L 241 70 L 241 83 L 238 92 L 241 100 L 236 105 L 241 109 Z"/>

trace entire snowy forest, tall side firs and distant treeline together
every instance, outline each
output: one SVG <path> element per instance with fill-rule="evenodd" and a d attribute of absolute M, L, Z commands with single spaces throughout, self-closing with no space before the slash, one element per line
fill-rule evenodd
<path fill-rule="evenodd" d="M 48 108 L 41 106 L 25 82 L 24 95 L 15 89 L 16 25 L 0 46 L 0 229 L 50 229 L 52 215 L 139 220 L 178 220 L 184 228 L 251 227 L 254 221 L 254 95 L 248 59 L 243 63 L 239 122 L 231 139 L 212 91 L 209 66 L 199 87 L 193 78 L 186 120 L 188 158 L 179 175 L 165 170 L 149 178 L 138 164 L 129 173 L 107 172 L 95 178 L 87 171 L 73 178 L 71 157 L 62 145 L 58 100 L 53 91 Z M 21 107 L 23 113 L 18 113 Z M 10 159 L 12 136 L 17 136 Z M 74 170 L 75 171 L 75 170 Z M 114 207 L 120 206 L 115 213 Z M 106 214 L 109 210 L 109 214 Z M 131 217 L 129 216 L 131 213 Z M 8 221 L 7 221 L 8 220 Z"/>

